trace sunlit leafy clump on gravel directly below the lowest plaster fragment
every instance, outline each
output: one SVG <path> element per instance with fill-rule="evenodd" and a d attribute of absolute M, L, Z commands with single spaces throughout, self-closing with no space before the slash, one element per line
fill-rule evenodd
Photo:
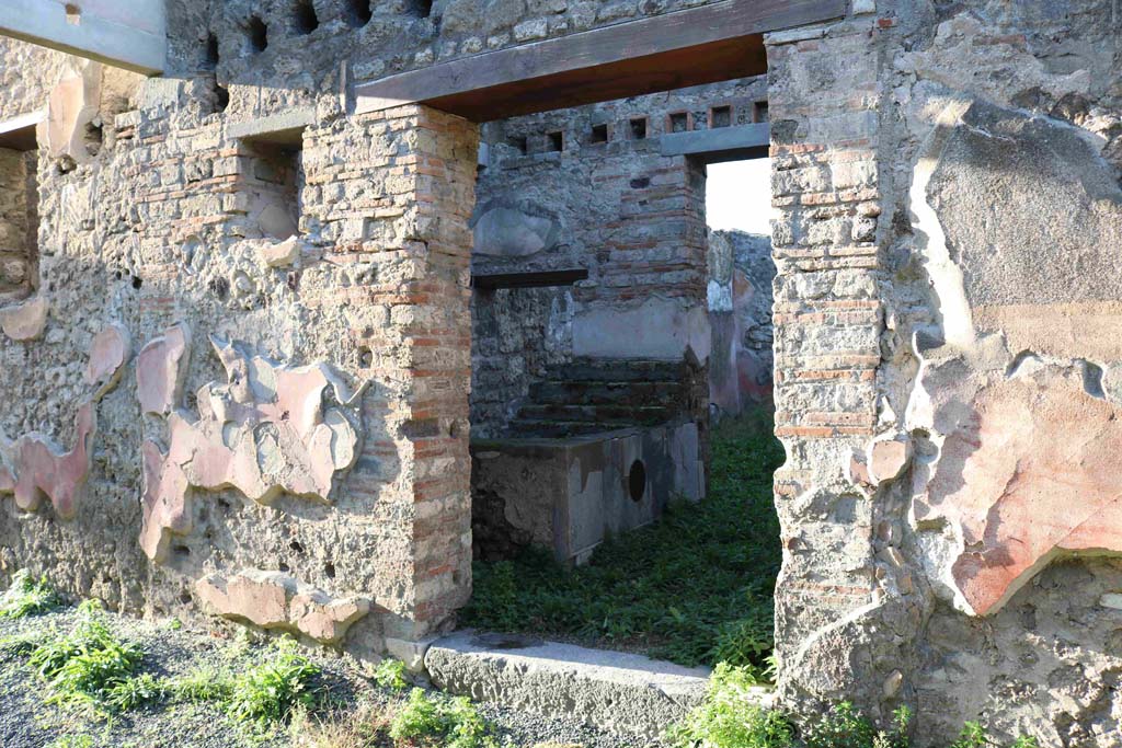
<path fill-rule="evenodd" d="M 277 639 L 269 657 L 230 683 L 227 709 L 238 720 L 260 728 L 286 722 L 297 707 L 315 702 L 311 684 L 320 667 L 298 652 L 288 637 Z"/>

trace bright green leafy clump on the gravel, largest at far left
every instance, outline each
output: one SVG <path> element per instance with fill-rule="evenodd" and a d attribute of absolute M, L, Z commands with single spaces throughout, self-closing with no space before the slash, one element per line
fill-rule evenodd
<path fill-rule="evenodd" d="M 86 600 L 79 606 L 74 627 L 36 647 L 28 662 L 50 684 L 49 702 L 101 705 L 109 703 L 113 690 L 129 680 L 142 657 L 138 647 L 109 629 L 101 603 Z"/>

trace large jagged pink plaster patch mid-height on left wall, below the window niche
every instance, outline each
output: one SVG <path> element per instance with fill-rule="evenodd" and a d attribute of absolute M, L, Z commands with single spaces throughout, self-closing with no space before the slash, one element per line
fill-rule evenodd
<path fill-rule="evenodd" d="M 233 488 L 259 504 L 280 493 L 328 502 L 335 473 L 349 468 L 357 454 L 358 434 L 351 422 L 340 408 L 324 406 L 328 387 L 335 390 L 338 401 L 350 401 L 325 364 L 289 368 L 250 357 L 222 340 L 212 343 L 227 370 L 227 384 L 211 382 L 199 390 L 197 418 L 173 410 L 167 455 L 157 460 L 150 451 L 146 454 L 146 464 L 151 465 L 146 468 L 140 542 L 157 562 L 166 557 L 167 533 L 191 530 L 190 488 Z M 153 371 L 159 376 L 145 375 L 141 390 L 145 381 L 171 381 L 167 370 L 158 369 L 166 358 L 151 355 Z M 144 351 L 140 358 L 145 359 Z M 147 367 L 146 360 L 138 361 L 138 377 Z M 160 390 L 160 398 L 165 395 L 167 390 Z M 157 399 L 149 400 L 146 410 Z"/>

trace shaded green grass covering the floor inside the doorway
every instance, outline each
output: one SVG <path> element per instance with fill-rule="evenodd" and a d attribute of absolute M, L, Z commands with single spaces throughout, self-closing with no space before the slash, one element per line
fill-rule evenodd
<path fill-rule="evenodd" d="M 540 552 L 477 563 L 463 622 L 642 649 L 683 665 L 728 662 L 765 677 L 782 558 L 772 474 L 782 462 L 769 414 L 723 424 L 712 434 L 709 498 L 670 507 L 577 570 Z"/>

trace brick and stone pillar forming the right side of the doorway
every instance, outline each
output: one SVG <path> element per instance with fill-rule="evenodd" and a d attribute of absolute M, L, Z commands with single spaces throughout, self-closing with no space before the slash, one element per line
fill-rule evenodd
<path fill-rule="evenodd" d="M 776 435 L 788 453 L 775 474 L 780 690 L 787 700 L 855 700 L 883 717 L 907 698 L 888 684 L 909 671 L 920 622 L 879 555 L 899 542 L 884 497 L 846 477 L 880 415 L 882 222 L 892 207 L 876 35 L 872 19 L 773 35 L 769 105 Z"/>

